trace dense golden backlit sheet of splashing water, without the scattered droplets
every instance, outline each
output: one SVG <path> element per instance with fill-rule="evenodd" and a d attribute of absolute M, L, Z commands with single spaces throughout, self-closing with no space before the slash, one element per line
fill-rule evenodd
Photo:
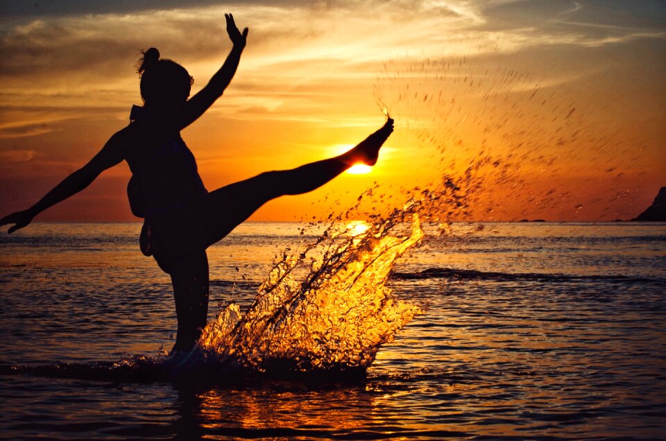
<path fill-rule="evenodd" d="M 244 315 L 236 304 L 223 309 L 200 347 L 257 372 L 364 370 L 420 311 L 386 286 L 396 259 L 423 237 L 415 208 L 412 201 L 356 235 L 339 229 L 339 216 L 304 252 L 283 255 Z"/>

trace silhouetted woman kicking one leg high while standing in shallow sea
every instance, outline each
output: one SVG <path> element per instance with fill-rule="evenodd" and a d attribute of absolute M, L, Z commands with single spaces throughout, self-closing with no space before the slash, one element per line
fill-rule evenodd
<path fill-rule="evenodd" d="M 33 207 L 5 216 L 0 225 L 25 227 L 37 214 L 85 189 L 107 168 L 125 160 L 133 175 L 128 184 L 130 207 L 144 218 L 139 243 L 171 275 L 176 300 L 178 336 L 173 352 L 189 351 L 206 324 L 208 260 L 206 249 L 229 234 L 268 200 L 307 193 L 355 163 L 374 165 L 379 148 L 393 131 L 393 120 L 338 157 L 293 170 L 269 171 L 208 192 L 194 155 L 180 130 L 196 121 L 229 85 L 246 45 L 231 14 L 225 14 L 233 43 L 210 82 L 189 98 L 192 78 L 184 67 L 160 59 L 148 49 L 138 63 L 143 107 L 134 106 L 130 124 L 114 134 L 85 166 L 71 173 Z"/>

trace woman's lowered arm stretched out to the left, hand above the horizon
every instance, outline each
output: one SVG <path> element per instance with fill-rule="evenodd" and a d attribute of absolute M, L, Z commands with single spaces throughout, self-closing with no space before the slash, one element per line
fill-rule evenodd
<path fill-rule="evenodd" d="M 13 233 L 16 230 L 19 230 L 19 228 L 23 228 L 31 223 L 33 218 L 45 209 L 56 205 L 58 202 L 65 200 L 69 198 L 69 196 L 88 187 L 100 173 L 124 159 L 121 148 L 119 148 L 118 138 L 118 134 L 112 136 L 102 150 L 90 159 L 85 166 L 67 176 L 67 178 L 62 180 L 60 184 L 56 185 L 53 190 L 46 193 L 46 196 L 40 199 L 35 205 L 0 219 L 0 226 L 13 223 L 14 226 L 10 227 L 8 230 L 9 233 Z"/>

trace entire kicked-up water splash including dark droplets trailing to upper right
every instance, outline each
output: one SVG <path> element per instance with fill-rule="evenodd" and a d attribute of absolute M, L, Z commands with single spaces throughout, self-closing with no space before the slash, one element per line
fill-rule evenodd
<path fill-rule="evenodd" d="M 420 312 L 387 286 L 398 258 L 424 238 L 420 221 L 447 232 L 452 219 L 477 205 L 489 176 L 511 172 L 490 155 L 467 164 L 460 173 L 440 171 L 438 182 L 403 190 L 406 202 L 388 211 L 386 199 L 395 207 L 395 195 L 368 189 L 348 211 L 329 216 L 327 229 L 303 252 L 284 252 L 246 313 L 226 306 L 203 330 L 199 347 L 216 363 L 257 372 L 369 367 L 379 347 Z M 369 220 L 366 231 L 344 226 L 358 218 Z"/>

